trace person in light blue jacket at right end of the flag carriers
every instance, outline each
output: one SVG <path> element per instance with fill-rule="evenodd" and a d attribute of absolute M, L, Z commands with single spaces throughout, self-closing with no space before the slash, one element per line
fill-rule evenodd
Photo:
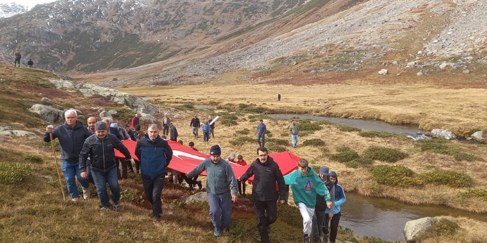
<path fill-rule="evenodd" d="M 340 222 L 341 210 L 340 205 L 347 201 L 345 197 L 345 191 L 338 183 L 338 177 L 336 177 L 336 172 L 332 171 L 328 175 L 328 179 L 332 181 L 335 186 L 334 192 L 334 204 L 333 209 L 327 208 L 325 210 L 325 226 L 323 227 L 323 233 L 325 233 L 324 241 L 328 241 L 328 222 L 330 221 L 330 242 L 335 243 L 336 232 L 338 231 L 338 226 Z"/>

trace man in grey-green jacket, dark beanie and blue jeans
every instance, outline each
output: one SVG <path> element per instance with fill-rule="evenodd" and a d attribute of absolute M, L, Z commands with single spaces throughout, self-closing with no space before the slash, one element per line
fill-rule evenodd
<path fill-rule="evenodd" d="M 232 201 L 237 201 L 237 179 L 230 163 L 221 158 L 221 147 L 213 145 L 210 159 L 203 160 L 187 177 L 196 177 L 206 171 L 206 192 L 210 204 L 210 217 L 214 226 L 214 235 L 220 236 L 221 231 L 230 226 L 232 220 Z M 230 188 L 232 189 L 230 195 Z"/>

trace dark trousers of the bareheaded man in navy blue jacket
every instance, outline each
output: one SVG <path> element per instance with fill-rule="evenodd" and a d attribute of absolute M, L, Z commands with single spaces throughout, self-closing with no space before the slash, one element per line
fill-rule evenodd
<path fill-rule="evenodd" d="M 154 179 L 142 177 L 142 183 L 144 183 L 146 199 L 152 204 L 152 217 L 160 217 L 162 215 L 161 193 L 164 187 L 164 173 Z"/>

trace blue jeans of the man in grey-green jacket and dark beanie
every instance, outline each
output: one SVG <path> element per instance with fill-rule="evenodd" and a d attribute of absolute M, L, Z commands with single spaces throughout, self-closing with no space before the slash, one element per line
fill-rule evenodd
<path fill-rule="evenodd" d="M 228 228 L 232 221 L 232 196 L 230 190 L 221 195 L 207 192 L 208 204 L 210 204 L 210 217 L 213 226 L 221 230 Z"/>

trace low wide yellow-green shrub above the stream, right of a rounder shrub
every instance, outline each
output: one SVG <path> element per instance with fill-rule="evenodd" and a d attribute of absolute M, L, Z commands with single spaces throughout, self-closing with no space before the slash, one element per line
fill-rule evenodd
<path fill-rule="evenodd" d="M 452 170 L 434 170 L 418 175 L 423 183 L 433 183 L 435 185 L 445 185 L 453 188 L 463 188 L 470 186 L 472 178 L 465 172 Z"/>

